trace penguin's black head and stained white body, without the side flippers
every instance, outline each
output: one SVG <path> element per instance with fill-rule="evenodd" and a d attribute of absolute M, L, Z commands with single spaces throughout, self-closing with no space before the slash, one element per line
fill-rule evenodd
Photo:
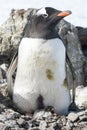
<path fill-rule="evenodd" d="M 19 45 L 12 91 L 13 102 L 23 112 L 53 106 L 58 114 L 68 113 L 66 49 L 55 26 L 69 14 L 70 11 L 41 8 L 26 27 L 25 37 Z"/>

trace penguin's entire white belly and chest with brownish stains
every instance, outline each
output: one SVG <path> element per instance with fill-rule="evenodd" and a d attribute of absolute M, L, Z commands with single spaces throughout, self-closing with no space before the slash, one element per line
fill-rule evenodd
<path fill-rule="evenodd" d="M 13 89 L 13 101 L 22 111 L 35 111 L 41 95 L 44 106 L 67 114 L 70 94 L 65 78 L 65 47 L 60 39 L 22 39 Z"/>

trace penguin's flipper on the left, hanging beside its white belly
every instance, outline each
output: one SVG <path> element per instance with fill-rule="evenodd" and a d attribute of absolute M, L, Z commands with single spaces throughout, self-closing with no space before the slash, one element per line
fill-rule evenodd
<path fill-rule="evenodd" d="M 13 74 L 15 73 L 17 69 L 17 63 L 18 63 L 18 55 L 16 53 L 7 71 L 7 87 L 8 87 L 8 94 L 10 96 L 13 95 L 13 87 L 14 87 Z"/>

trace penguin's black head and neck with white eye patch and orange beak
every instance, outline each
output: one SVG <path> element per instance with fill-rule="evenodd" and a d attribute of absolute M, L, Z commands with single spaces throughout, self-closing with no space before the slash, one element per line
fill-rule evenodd
<path fill-rule="evenodd" d="M 71 14 L 71 11 L 60 11 L 51 7 L 38 9 L 32 16 L 27 36 L 33 38 L 55 38 L 55 26 L 64 17 Z"/>

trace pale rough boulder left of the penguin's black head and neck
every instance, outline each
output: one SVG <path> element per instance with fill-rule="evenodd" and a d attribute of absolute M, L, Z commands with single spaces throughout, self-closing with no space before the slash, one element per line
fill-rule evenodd
<path fill-rule="evenodd" d="M 32 10 L 24 10 L 21 14 L 20 11 L 12 10 L 8 20 L 0 27 L 0 59 L 4 62 L 9 62 L 15 54 Z"/>

